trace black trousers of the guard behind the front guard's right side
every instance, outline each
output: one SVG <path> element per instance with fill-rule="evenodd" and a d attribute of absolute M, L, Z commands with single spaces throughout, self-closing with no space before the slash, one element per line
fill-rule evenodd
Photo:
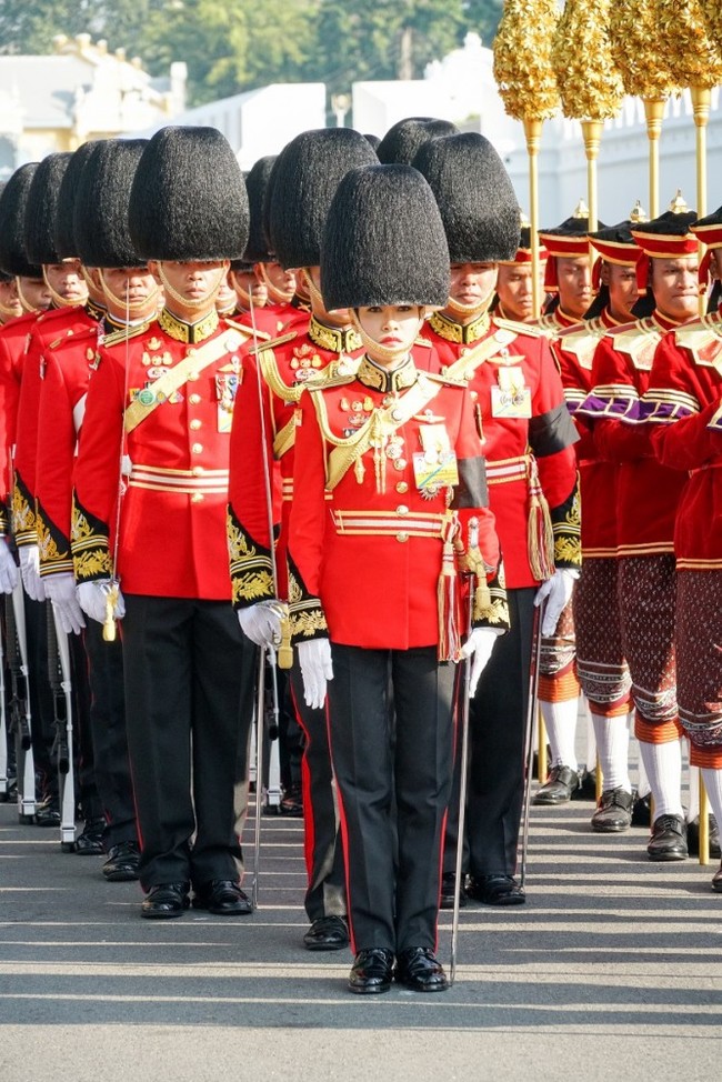
<path fill-rule="evenodd" d="M 463 868 L 477 878 L 517 871 L 535 592 L 534 587 L 508 591 L 511 629 L 494 644 L 470 704 Z M 445 872 L 455 866 L 459 775 L 457 757 L 444 841 Z"/>

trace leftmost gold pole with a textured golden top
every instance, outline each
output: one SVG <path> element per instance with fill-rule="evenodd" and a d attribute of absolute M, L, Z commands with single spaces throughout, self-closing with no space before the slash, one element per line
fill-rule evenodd
<path fill-rule="evenodd" d="M 551 46 L 559 8 L 556 0 L 504 0 L 494 39 L 494 78 L 504 109 L 524 126 L 529 154 L 529 217 L 531 219 L 532 298 L 541 311 L 539 288 L 539 147 L 542 123 L 559 108 Z"/>

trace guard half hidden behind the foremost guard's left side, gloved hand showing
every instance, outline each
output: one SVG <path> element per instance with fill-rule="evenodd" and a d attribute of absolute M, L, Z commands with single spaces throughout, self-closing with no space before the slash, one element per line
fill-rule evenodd
<path fill-rule="evenodd" d="M 292 321 L 287 332 L 259 345 L 243 364 L 231 439 L 229 549 L 233 601 L 241 627 L 259 645 L 280 634 L 278 601 L 288 601 L 285 552 L 293 500 L 294 410 L 305 385 L 339 372 L 350 374 L 361 339 L 348 311 L 330 313 L 320 293 L 321 239 L 331 199 L 349 169 L 372 164 L 375 154 L 352 129 L 324 128 L 297 136 L 275 170 L 270 224 L 282 266 L 299 268 L 310 282 L 310 321 Z M 261 412 L 262 402 L 262 412 Z M 280 537 L 271 557 L 267 467 L 282 488 Z M 274 477 L 275 480 L 275 477 Z M 274 577 L 273 568 L 278 568 Z M 305 734 L 302 760 L 308 889 L 309 950 L 349 943 L 343 853 L 328 748 L 325 712 L 303 699 L 298 664 L 291 672 L 293 703 Z"/>

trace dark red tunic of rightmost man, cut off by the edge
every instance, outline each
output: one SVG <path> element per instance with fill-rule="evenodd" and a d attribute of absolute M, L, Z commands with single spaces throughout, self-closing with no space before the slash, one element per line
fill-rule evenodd
<path fill-rule="evenodd" d="M 674 528 L 680 571 L 722 570 L 722 315 L 685 323 L 654 354 L 644 395 L 662 467 L 683 471 Z M 689 471 L 689 480 L 686 480 Z"/>

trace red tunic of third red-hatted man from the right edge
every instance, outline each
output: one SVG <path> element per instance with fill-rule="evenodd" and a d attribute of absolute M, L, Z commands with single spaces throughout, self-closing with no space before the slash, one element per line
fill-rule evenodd
<path fill-rule="evenodd" d="M 600 457 L 591 423 L 578 409 L 592 390 L 592 362 L 596 345 L 609 330 L 619 325 L 619 321 L 604 309 L 595 319 L 582 320 L 561 331 L 551 342 L 564 384 L 566 407 L 580 437 L 574 450 L 583 508 L 584 560 L 616 555 L 618 467 L 615 462 Z"/>

